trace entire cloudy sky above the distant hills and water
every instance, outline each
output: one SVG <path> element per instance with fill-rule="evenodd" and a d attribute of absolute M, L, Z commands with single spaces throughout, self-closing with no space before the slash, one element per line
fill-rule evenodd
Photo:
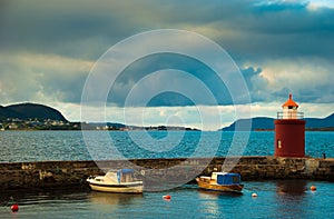
<path fill-rule="evenodd" d="M 82 91 L 101 56 L 122 40 L 159 29 L 195 32 L 222 47 L 247 86 L 252 117 L 274 118 L 288 93 L 305 117 L 333 113 L 334 2 L 330 0 L 0 0 L 0 104 L 42 103 L 80 121 Z M 164 37 L 158 40 L 161 44 Z M 175 43 L 206 52 L 191 40 Z M 149 46 L 138 42 L 134 51 L 125 52 Z M 194 78 L 205 88 L 197 87 Z M 234 102 L 230 89 L 235 88 L 225 82 L 189 57 L 147 56 L 115 80 L 104 118 L 216 130 L 242 118 L 236 110 L 246 104 Z M 148 90 L 161 87 L 169 91 L 148 99 Z M 176 92 L 180 88 L 185 92 Z M 204 94 L 206 88 L 215 101 Z M 125 106 L 129 94 L 136 101 Z M 86 113 L 101 113 L 86 107 Z M 99 118 L 92 116 L 91 121 Z"/>

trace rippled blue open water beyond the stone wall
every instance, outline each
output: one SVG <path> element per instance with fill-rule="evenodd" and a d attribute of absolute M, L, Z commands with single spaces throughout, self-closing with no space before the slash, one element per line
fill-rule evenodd
<path fill-rule="evenodd" d="M 104 131 L 91 131 L 89 142 L 92 147 L 88 147 L 81 131 L 2 131 L 0 162 L 225 157 L 232 141 L 238 143 L 234 132 L 223 132 L 218 136 L 219 141 L 219 132 L 151 131 L 151 138 L 144 131 L 129 133 L 110 131 L 106 138 Z M 334 158 L 333 142 L 334 132 L 306 132 L 305 153 L 315 158 L 325 153 L 327 158 Z M 273 155 L 274 132 L 250 132 L 242 156 Z"/>

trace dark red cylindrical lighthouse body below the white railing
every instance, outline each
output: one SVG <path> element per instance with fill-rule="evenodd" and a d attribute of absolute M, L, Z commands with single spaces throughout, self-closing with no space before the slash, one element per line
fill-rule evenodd
<path fill-rule="evenodd" d="M 276 157 L 305 157 L 305 120 L 277 119 L 275 123 Z"/>

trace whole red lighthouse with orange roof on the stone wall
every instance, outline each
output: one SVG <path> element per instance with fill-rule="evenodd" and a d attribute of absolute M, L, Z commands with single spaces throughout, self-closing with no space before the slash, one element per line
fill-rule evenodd
<path fill-rule="evenodd" d="M 298 112 L 298 104 L 292 94 L 282 106 L 283 112 L 277 112 L 275 120 L 275 156 L 305 157 L 305 123 L 304 113 Z"/>

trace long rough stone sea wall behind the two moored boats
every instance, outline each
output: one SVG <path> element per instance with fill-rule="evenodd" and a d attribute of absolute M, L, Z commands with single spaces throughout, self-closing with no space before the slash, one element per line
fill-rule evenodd
<path fill-rule="evenodd" d="M 145 179 L 177 181 L 189 179 L 194 172 L 210 175 L 220 171 L 225 158 L 134 159 L 108 161 L 42 161 L 0 163 L 0 188 L 45 189 L 87 187 L 86 179 L 104 175 L 108 169 L 137 167 Z M 234 159 L 229 160 L 234 161 Z M 232 170 L 230 170 L 232 169 Z M 225 163 L 224 170 L 239 172 L 243 180 L 311 179 L 334 181 L 334 159 L 242 157 L 237 165 Z M 197 176 L 197 175 L 196 175 Z M 193 176 L 194 179 L 196 176 Z M 191 180 L 190 180 L 191 181 Z"/>

